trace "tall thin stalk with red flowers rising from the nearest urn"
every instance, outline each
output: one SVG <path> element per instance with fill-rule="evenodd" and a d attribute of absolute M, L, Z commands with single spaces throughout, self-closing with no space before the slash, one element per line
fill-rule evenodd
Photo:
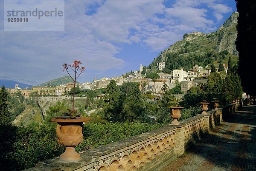
<path fill-rule="evenodd" d="M 80 61 L 75 60 L 73 62 L 73 64 L 63 64 L 63 72 L 67 71 L 68 75 L 70 76 L 70 73 L 68 72 L 69 67 L 75 72 L 75 77 L 73 78 L 72 76 L 70 76 L 70 78 L 72 78 L 72 80 L 74 81 L 74 88 L 73 88 L 73 104 L 72 104 L 72 111 L 70 111 L 70 115 L 76 115 L 76 110 L 74 109 L 74 105 L 75 105 L 75 87 L 76 87 L 76 78 L 78 78 L 81 73 L 83 73 L 84 71 L 84 67 L 80 67 L 80 64 L 82 64 Z M 79 73 L 80 72 L 80 73 Z"/>

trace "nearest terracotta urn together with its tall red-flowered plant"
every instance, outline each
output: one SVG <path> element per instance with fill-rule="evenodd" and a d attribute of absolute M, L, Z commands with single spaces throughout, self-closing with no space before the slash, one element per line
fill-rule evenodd
<path fill-rule="evenodd" d="M 80 159 L 80 154 L 75 151 L 75 147 L 84 139 L 82 134 L 83 123 L 89 121 L 89 118 L 81 117 L 81 114 L 77 113 L 77 110 L 74 108 L 76 78 L 78 78 L 84 71 L 84 67 L 80 67 L 80 64 L 80 61 L 75 60 L 73 65 L 62 65 L 63 71 L 67 71 L 69 76 L 69 67 L 75 72 L 74 78 L 70 76 L 74 81 L 72 109 L 69 109 L 69 112 L 64 113 L 66 116 L 51 119 L 51 121 L 58 123 L 56 127 L 58 143 L 66 148 L 65 152 L 60 155 L 60 160 L 62 161 L 76 161 Z"/>

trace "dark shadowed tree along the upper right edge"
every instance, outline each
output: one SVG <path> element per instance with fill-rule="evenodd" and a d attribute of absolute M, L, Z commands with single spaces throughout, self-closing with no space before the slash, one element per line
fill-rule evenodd
<path fill-rule="evenodd" d="M 239 52 L 239 75 L 244 91 L 256 95 L 256 82 L 250 78 L 255 77 L 251 71 L 255 67 L 255 42 L 256 42 L 256 1 L 236 0 L 239 12 L 237 25 L 236 50 Z"/>

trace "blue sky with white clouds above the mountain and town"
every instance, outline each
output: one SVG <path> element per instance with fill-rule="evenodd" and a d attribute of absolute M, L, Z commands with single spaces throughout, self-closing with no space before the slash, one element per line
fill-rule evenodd
<path fill-rule="evenodd" d="M 61 65 L 75 59 L 86 68 L 80 82 L 139 70 L 236 11 L 235 0 L 65 0 L 64 32 L 6 32 L 0 6 L 0 78 L 32 85 L 66 75 Z"/>

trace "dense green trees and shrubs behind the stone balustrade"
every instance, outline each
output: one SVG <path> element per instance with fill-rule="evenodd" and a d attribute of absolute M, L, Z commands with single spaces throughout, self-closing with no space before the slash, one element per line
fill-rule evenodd
<path fill-rule="evenodd" d="M 137 83 L 124 83 L 117 86 L 114 80 L 105 90 L 89 90 L 85 92 L 86 99 L 77 99 L 75 108 L 84 112 L 84 109 L 96 108 L 90 114 L 91 121 L 84 124 L 84 141 L 76 147 L 82 151 L 97 146 L 109 144 L 127 137 L 150 131 L 170 123 L 170 109 L 168 107 L 183 106 L 180 121 L 197 115 L 201 112 L 198 103 L 219 99 L 228 101 L 240 98 L 242 94 L 239 76 L 236 74 L 237 65 L 230 64 L 229 73 L 213 72 L 206 84 L 199 84 L 187 91 L 183 99 L 173 96 L 180 92 L 180 84 L 169 89 L 164 84 L 161 91 L 163 96 L 156 101 L 147 99 Z M 96 95 L 105 94 L 95 99 Z M 49 122 L 50 118 L 63 115 L 71 107 L 68 99 L 52 104 L 46 111 L 42 123 L 32 122 L 24 126 L 12 126 L 11 122 L 20 112 L 9 112 L 19 109 L 19 106 L 29 105 L 40 108 L 37 95 L 24 98 L 17 93 L 9 97 L 2 87 L 0 91 L 0 157 L 2 170 L 21 170 L 34 166 L 41 160 L 60 155 L 64 147 L 57 143 L 55 135 L 56 123 Z M 101 109 L 102 107 L 102 109 Z M 22 109 L 21 109 L 22 110 Z M 17 110 L 19 111 L 19 110 Z M 83 113 L 85 115 L 85 113 Z"/>

